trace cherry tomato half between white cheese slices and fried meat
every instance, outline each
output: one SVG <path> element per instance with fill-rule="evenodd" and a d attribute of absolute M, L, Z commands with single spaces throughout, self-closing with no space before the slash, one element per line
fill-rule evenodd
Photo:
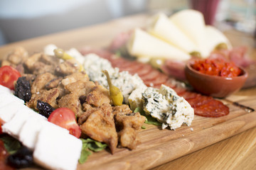
<path fill-rule="evenodd" d="M 53 113 L 50 113 L 48 121 L 67 129 L 70 135 L 78 138 L 81 135 L 81 129 L 75 120 L 75 113 L 69 108 L 57 108 Z"/>

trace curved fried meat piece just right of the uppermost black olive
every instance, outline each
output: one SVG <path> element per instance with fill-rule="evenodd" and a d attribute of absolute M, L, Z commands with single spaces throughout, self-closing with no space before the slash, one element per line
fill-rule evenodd
<path fill-rule="evenodd" d="M 46 84 L 48 84 L 49 81 L 52 79 L 55 79 L 55 76 L 50 73 L 41 74 L 38 77 L 36 77 L 35 81 L 33 81 L 31 86 L 31 93 L 36 94 L 37 92 L 41 91 L 41 89 L 44 89 Z"/>

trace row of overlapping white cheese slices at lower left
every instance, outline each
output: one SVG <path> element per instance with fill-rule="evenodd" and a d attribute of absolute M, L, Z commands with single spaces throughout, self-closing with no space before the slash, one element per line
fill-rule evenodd
<path fill-rule="evenodd" d="M 0 119 L 3 132 L 33 150 L 33 159 L 48 169 L 76 169 L 82 141 L 68 130 L 48 122 L 0 85 Z"/>

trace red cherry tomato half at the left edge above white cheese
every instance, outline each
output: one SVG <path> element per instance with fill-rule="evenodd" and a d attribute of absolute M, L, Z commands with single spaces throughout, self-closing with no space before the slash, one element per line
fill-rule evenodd
<path fill-rule="evenodd" d="M 21 77 L 21 74 L 11 66 L 3 66 L 0 68 L 0 84 L 14 90 L 14 82 Z"/>

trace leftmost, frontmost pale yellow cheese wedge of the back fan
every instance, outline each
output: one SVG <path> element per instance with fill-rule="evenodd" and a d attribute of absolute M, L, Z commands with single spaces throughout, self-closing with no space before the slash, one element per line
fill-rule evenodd
<path fill-rule="evenodd" d="M 132 37 L 127 43 L 127 49 L 130 55 L 134 56 L 161 57 L 181 61 L 191 58 L 186 52 L 139 28 L 134 30 Z"/>

